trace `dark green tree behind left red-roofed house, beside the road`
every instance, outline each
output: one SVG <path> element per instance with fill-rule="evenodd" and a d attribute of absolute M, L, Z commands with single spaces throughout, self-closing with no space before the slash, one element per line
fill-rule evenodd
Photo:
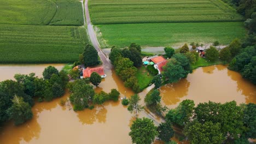
<path fill-rule="evenodd" d="M 90 67 L 99 64 L 98 52 L 95 50 L 94 46 L 87 44 L 84 48 L 84 65 L 85 67 Z"/>

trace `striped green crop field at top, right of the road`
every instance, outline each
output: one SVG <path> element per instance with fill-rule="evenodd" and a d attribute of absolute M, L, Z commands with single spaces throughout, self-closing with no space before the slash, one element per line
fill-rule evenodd
<path fill-rule="evenodd" d="M 221 0 L 97 0 L 89 1 L 89 9 L 94 25 L 243 21 Z"/>

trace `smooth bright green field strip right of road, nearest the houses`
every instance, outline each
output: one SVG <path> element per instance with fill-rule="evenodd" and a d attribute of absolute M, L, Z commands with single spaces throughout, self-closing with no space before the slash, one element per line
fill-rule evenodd
<path fill-rule="evenodd" d="M 141 46 L 182 46 L 184 43 L 198 42 L 229 44 L 235 38 L 243 38 L 246 30 L 243 22 L 206 23 L 139 23 L 98 25 L 102 36 L 101 46 L 118 47 L 137 43 Z"/>

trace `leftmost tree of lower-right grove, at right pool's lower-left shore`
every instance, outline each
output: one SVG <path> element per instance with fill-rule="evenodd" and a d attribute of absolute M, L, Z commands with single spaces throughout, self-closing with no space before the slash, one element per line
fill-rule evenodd
<path fill-rule="evenodd" d="M 183 127 L 193 116 L 194 106 L 193 100 L 183 100 L 176 109 L 172 109 L 166 114 L 165 119 L 167 122 Z"/>

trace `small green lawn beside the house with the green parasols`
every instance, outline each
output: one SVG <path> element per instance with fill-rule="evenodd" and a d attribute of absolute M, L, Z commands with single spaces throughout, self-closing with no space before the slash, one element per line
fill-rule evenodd
<path fill-rule="evenodd" d="M 153 77 L 154 77 L 150 73 L 148 75 L 148 70 L 144 66 L 138 68 L 138 71 L 135 76 L 138 80 L 138 85 L 141 90 L 148 87 L 148 85 L 151 83 L 151 81 L 153 80 Z"/>

